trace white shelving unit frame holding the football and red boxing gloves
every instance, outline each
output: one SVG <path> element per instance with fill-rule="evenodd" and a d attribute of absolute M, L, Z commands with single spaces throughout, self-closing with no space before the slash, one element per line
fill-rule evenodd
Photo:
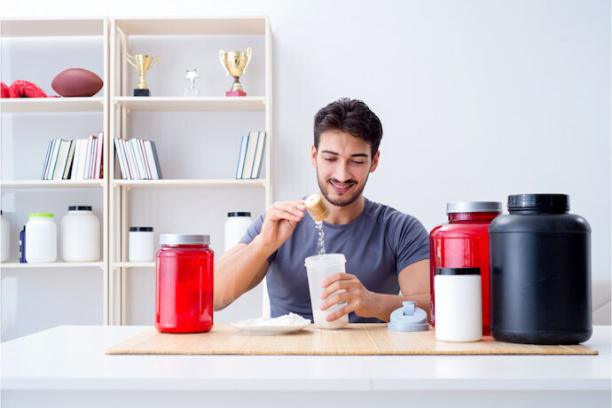
<path fill-rule="evenodd" d="M 27 43 L 41 43 L 42 48 L 48 46 L 50 41 L 54 41 L 53 38 L 61 37 L 60 41 L 75 41 L 81 39 L 83 36 L 97 37 L 100 39 L 102 45 L 101 71 L 103 73 L 102 80 L 105 83 L 105 87 L 102 90 L 102 97 L 92 98 L 3 98 L 0 99 L 0 112 L 2 113 L 3 121 L 5 118 L 9 118 L 9 115 L 20 115 L 27 114 L 29 117 L 35 117 L 36 121 L 44 122 L 48 120 L 49 116 L 45 114 L 81 114 L 81 113 L 96 113 L 102 117 L 102 129 L 99 129 L 97 124 L 92 124 L 90 132 L 95 134 L 98 130 L 104 131 L 106 137 L 109 135 L 108 128 L 108 101 L 109 101 L 109 70 L 108 70 L 108 25 L 109 22 L 106 18 L 95 18 L 95 19 L 38 19 L 38 20 L 2 20 L 1 37 L 3 41 L 27 41 Z M 14 40 L 13 40 L 14 39 Z M 57 39 L 57 38 L 56 38 Z M 61 55 L 58 56 L 61 59 Z M 27 64 L 31 64 L 31 61 L 24 61 Z M 39 67 L 43 70 L 43 67 Z M 27 78 L 33 82 L 36 82 L 34 78 Z M 4 79 L 7 81 L 7 79 Z M 10 83 L 9 83 L 10 85 Z M 11 129 L 11 128 L 9 128 Z M 12 133 L 9 131 L 8 133 Z M 62 135 L 64 136 L 64 135 Z M 82 135 L 81 137 L 86 137 Z M 4 137 L 28 137 L 28 135 L 20 134 L 8 134 L 3 135 Z M 79 136 L 66 135 L 66 138 L 78 138 Z M 7 144 L 11 145 L 11 144 Z M 6 150 L 4 150 L 6 149 Z M 15 167 L 14 161 L 17 161 L 16 157 L 23 156 L 24 152 L 13 151 L 10 147 L 5 147 L 3 144 L 3 161 L 8 161 L 10 164 L 9 168 Z M 108 143 L 104 145 L 103 152 L 103 166 L 104 169 L 108 168 Z M 42 159 L 41 159 L 42 160 Z M 40 163 L 42 169 L 42 162 Z M 36 179 L 19 179 L 19 171 L 15 172 L 15 179 L 4 178 L 0 181 L 0 188 L 4 196 L 5 193 L 27 193 L 35 191 L 42 193 L 47 197 L 57 196 L 59 194 L 58 189 L 84 189 L 84 191 L 90 191 L 90 189 L 101 191 L 102 199 L 98 203 L 98 208 L 101 208 L 102 219 L 101 222 L 101 242 L 102 242 L 102 253 L 99 262 L 92 263 L 2 263 L 1 267 L 3 270 L 14 270 L 14 269 L 76 269 L 76 268 L 98 268 L 103 274 L 102 287 L 100 290 L 103 292 L 102 299 L 104 305 L 103 310 L 103 321 L 105 324 L 109 323 L 109 264 L 108 264 L 108 183 L 110 177 L 108 172 L 105 172 L 103 179 L 99 180 L 36 180 Z M 69 200 L 69 199 L 67 199 Z M 74 204 L 67 201 L 65 208 L 68 205 Z M 42 204 L 44 205 L 44 204 Z M 62 203 L 62 206 L 64 203 Z M 20 213 L 20 208 L 16 209 L 17 213 Z M 20 219 L 27 219 L 27 214 L 19 214 Z M 56 215 L 56 224 L 59 229 L 60 216 Z M 16 237 L 11 237 L 12 242 L 16 240 Z M 13 247 L 14 248 L 14 247 Z M 14 256 L 13 256 L 14 257 Z M 58 258 L 60 259 L 60 258 Z M 75 308 L 79 305 L 75 304 Z"/>

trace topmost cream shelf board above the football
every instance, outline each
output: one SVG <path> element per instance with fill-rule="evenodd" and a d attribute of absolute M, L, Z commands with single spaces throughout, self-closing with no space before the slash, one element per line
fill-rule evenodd
<path fill-rule="evenodd" d="M 104 35 L 104 19 L 38 19 L 12 20 L 3 19 L 0 36 L 82 36 Z"/>

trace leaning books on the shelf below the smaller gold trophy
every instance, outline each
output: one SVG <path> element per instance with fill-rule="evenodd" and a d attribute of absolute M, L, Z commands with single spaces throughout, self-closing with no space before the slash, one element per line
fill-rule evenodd
<path fill-rule="evenodd" d="M 125 180 L 159 180 L 160 161 L 155 142 L 133 137 L 129 140 L 114 139 L 114 152 Z"/>

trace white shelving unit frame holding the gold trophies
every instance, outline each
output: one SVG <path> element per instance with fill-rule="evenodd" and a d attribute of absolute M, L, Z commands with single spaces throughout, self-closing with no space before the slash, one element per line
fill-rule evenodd
<path fill-rule="evenodd" d="M 246 18 L 184 18 L 184 19 L 116 19 L 111 20 L 110 29 L 110 67 L 112 87 L 110 100 L 110 129 L 112 129 L 110 140 L 114 138 L 145 137 L 129 135 L 129 124 L 133 114 L 142 113 L 180 113 L 196 114 L 202 112 L 231 113 L 235 117 L 240 114 L 260 112 L 264 115 L 260 129 L 266 131 L 264 172 L 265 177 L 252 180 L 236 180 L 226 178 L 178 178 L 162 180 L 122 180 L 117 178 L 118 172 L 115 165 L 113 150 L 109 153 L 109 169 L 114 169 L 110 180 L 109 190 L 109 229 L 112 245 L 109 248 L 109 264 L 111 287 L 110 295 L 110 323 L 127 323 L 127 275 L 131 268 L 154 268 L 154 263 L 129 263 L 128 258 L 128 232 L 129 232 L 129 200 L 130 191 L 133 189 L 159 189 L 159 188 L 223 188 L 223 189 L 245 189 L 263 188 L 264 206 L 267 208 L 272 199 L 272 64 L 271 64 L 271 27 L 267 17 Z M 132 97 L 132 88 L 135 82 L 130 82 L 129 77 L 132 67 L 129 67 L 125 59 L 126 52 L 137 53 L 130 50 L 130 41 L 133 37 L 137 40 L 150 38 L 152 41 L 171 36 L 190 36 L 197 43 L 207 43 L 210 38 L 219 38 L 222 35 L 240 36 L 255 35 L 263 38 L 263 55 L 257 58 L 264 59 L 264 82 L 263 95 L 251 95 L 247 97 L 224 97 L 219 95 L 199 96 L 195 98 L 184 98 L 176 96 L 157 96 L 152 89 L 151 97 Z M 151 47 L 154 48 L 154 47 Z M 153 55 L 153 51 L 148 51 Z M 155 51 L 156 52 L 156 51 Z M 185 49 L 185 53 L 192 52 Z M 217 51 L 218 52 L 218 51 Z M 162 60 L 165 57 L 162 56 Z M 160 68 L 153 68 L 160 69 Z M 212 68 L 210 68 L 212 69 Z M 220 71 L 218 59 L 216 70 Z M 153 72 L 151 75 L 154 75 Z M 159 74 L 158 74 L 159 75 Z M 170 80 L 170 78 L 168 78 Z M 147 82 L 149 76 L 147 75 Z M 228 89 L 231 85 L 231 77 L 228 77 Z M 247 90 L 248 92 L 248 90 Z M 160 92 L 161 93 L 161 92 Z M 183 117 L 183 116 L 182 116 Z M 137 121 L 135 121 L 137 122 Z M 247 129 L 253 130 L 253 129 Z M 227 136 L 227 135 L 225 135 Z M 156 136 L 159 137 L 159 136 Z M 186 143 L 181 140 L 181 135 L 173 135 L 177 143 Z M 224 137 L 219 135 L 219 141 Z M 155 137 L 145 137 L 154 139 Z M 236 146 L 238 149 L 238 146 Z M 188 150 L 188 149 L 187 149 Z M 238 152 L 236 152 L 237 154 Z M 163 154 L 158 149 L 158 154 Z M 227 158 L 234 161 L 235 157 Z M 162 166 L 162 173 L 164 172 Z M 174 191 L 174 190 L 173 190 Z M 223 220 L 218 221 L 220 224 Z"/>

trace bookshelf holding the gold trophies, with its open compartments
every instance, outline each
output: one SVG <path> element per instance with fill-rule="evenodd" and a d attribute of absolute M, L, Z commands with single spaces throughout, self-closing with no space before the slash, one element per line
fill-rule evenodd
<path fill-rule="evenodd" d="M 128 262 L 129 226 L 153 226 L 156 237 L 160 233 L 210 233 L 212 247 L 220 256 L 223 236 L 219 231 L 223 231 L 225 215 L 209 208 L 224 202 L 247 204 L 255 206 L 257 216 L 271 205 L 271 26 L 267 17 L 114 19 L 110 20 L 109 43 L 110 140 L 153 140 L 166 177 L 124 180 L 117 171 L 114 150 L 109 152 L 109 169 L 114 169 L 109 180 L 109 318 L 111 324 L 128 324 L 129 286 L 143 284 L 135 281 L 134 271 L 146 274 L 150 283 L 155 265 Z M 232 79 L 221 67 L 218 51 L 243 51 L 246 46 L 254 49 L 253 62 L 240 77 L 247 97 L 225 97 Z M 126 61 L 126 52 L 161 55 L 161 63 L 146 75 L 150 97 L 131 96 L 137 75 Z M 184 69 L 195 67 L 201 76 L 200 96 L 185 98 Z M 169 128 L 174 121 L 176 129 Z M 250 130 L 266 132 L 263 176 L 236 180 L 239 138 Z M 190 200 L 198 200 L 207 211 L 185 205 Z M 138 214 L 143 206 L 151 215 L 148 224 L 136 221 L 145 218 Z M 170 220 L 176 220 L 177 226 L 170 227 Z M 185 231 L 190 222 L 199 226 Z"/>

